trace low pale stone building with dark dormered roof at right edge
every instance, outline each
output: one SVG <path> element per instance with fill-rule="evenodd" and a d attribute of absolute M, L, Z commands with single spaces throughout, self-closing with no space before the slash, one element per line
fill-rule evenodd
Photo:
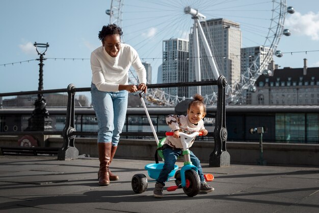
<path fill-rule="evenodd" d="M 249 92 L 248 104 L 318 105 L 319 67 L 275 69 L 273 76 L 260 76 L 256 92 Z"/>

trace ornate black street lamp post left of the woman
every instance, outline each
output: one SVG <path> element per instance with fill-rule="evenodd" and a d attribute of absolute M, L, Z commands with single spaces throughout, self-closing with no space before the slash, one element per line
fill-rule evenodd
<path fill-rule="evenodd" d="M 38 55 L 40 55 L 40 58 L 37 59 L 40 61 L 39 66 L 39 86 L 38 91 L 43 90 L 43 61 L 46 60 L 43 56 L 45 55 L 45 52 L 47 51 L 47 48 L 49 46 L 48 43 L 34 43 L 34 46 L 36 47 L 36 51 Z M 45 48 L 44 51 L 39 52 L 38 48 Z M 39 93 L 38 98 L 34 103 L 35 109 L 32 112 L 32 115 L 29 119 L 29 125 L 28 128 L 25 129 L 25 131 L 46 131 L 46 130 L 52 130 L 51 122 L 52 119 L 49 117 L 49 113 L 46 110 L 46 101 L 43 98 L 43 94 Z"/>

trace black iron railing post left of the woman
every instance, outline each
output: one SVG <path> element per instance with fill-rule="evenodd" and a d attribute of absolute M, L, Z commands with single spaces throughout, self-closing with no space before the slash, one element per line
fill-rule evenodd
<path fill-rule="evenodd" d="M 74 128 L 74 103 L 75 103 L 75 86 L 69 84 L 68 88 L 68 106 L 66 112 L 66 121 L 63 129 L 63 146 L 59 150 L 58 160 L 78 158 L 78 150 L 74 146 L 75 135 L 72 133 Z"/>

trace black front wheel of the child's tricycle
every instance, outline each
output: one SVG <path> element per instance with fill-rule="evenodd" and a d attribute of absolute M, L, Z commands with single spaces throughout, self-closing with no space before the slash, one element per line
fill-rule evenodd
<path fill-rule="evenodd" d="M 189 197 L 196 196 L 200 191 L 200 179 L 195 170 L 185 171 L 185 179 L 190 182 L 189 187 L 182 187 L 184 193 Z"/>

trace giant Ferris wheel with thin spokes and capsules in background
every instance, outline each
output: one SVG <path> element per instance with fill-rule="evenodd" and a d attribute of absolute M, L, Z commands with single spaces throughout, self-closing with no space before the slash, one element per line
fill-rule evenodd
<path fill-rule="evenodd" d="M 233 84 L 227 84 L 227 104 L 245 103 L 246 93 L 256 91 L 254 84 L 258 77 L 271 75 L 268 67 L 273 63 L 274 55 L 281 56 L 281 52 L 277 50 L 280 38 L 282 35 L 290 35 L 289 30 L 284 29 L 285 15 L 294 13 L 294 9 L 287 8 L 286 0 L 256 0 L 250 3 L 240 0 L 135 0 L 126 1 L 125 4 L 124 0 L 113 0 L 106 13 L 110 15 L 110 23 L 122 27 L 124 33 L 122 42 L 134 46 L 142 61 L 150 63 L 154 69 L 157 69 L 163 62 L 163 40 L 189 37 L 194 17 L 184 12 L 187 7 L 195 9 L 206 17 L 201 21 L 226 18 L 240 23 L 242 47 L 264 47 L 263 53 L 254 57 L 249 67 L 242 70 L 240 78 Z M 130 73 L 130 81 L 137 82 L 134 72 Z M 159 89 L 149 90 L 148 98 L 163 105 L 176 105 L 185 99 L 185 97 L 171 96 Z M 204 98 L 206 104 L 214 104 L 217 94 L 212 92 L 206 94 Z"/>

